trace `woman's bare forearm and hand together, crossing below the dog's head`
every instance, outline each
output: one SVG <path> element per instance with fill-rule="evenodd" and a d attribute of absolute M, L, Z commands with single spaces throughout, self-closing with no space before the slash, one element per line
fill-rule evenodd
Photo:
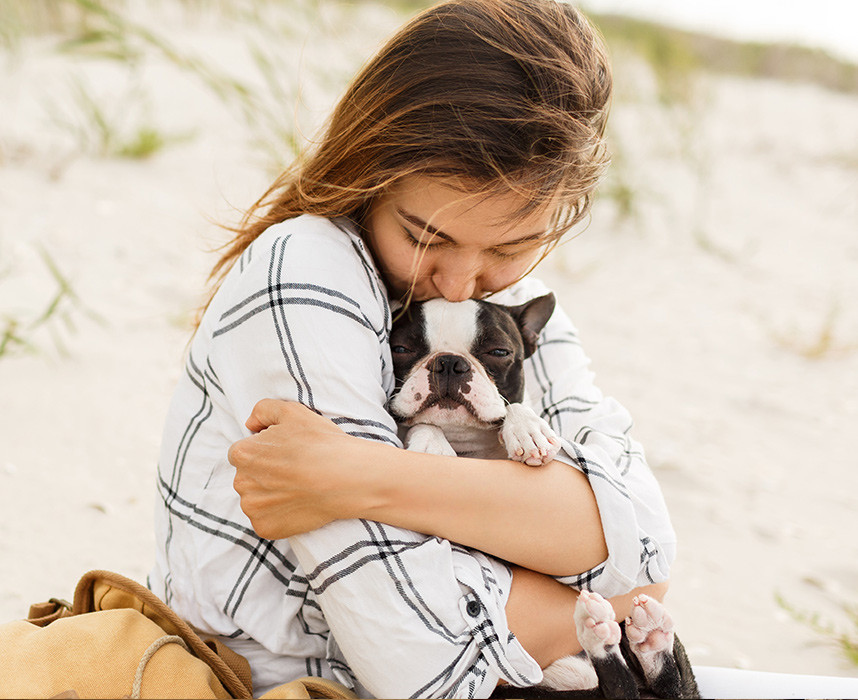
<path fill-rule="evenodd" d="M 268 539 L 367 518 L 547 574 L 582 573 L 607 558 L 593 491 L 566 464 L 409 452 L 273 400 L 260 401 L 247 426 L 256 434 L 229 458 L 242 509 Z"/>

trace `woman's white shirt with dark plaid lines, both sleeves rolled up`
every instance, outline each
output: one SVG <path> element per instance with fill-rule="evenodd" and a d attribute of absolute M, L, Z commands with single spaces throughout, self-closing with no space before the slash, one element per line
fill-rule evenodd
<path fill-rule="evenodd" d="M 496 296 L 544 292 L 526 280 Z M 498 680 L 542 672 L 507 626 L 503 562 L 367 520 L 258 537 L 233 490 L 227 450 L 257 401 L 300 401 L 345 432 L 401 447 L 385 410 L 393 388 L 384 286 L 344 220 L 273 226 L 241 256 L 207 310 L 164 431 L 149 585 L 204 633 L 247 656 L 256 690 L 318 675 L 376 697 L 486 697 Z M 527 361 L 534 407 L 561 436 L 558 457 L 589 477 L 609 557 L 560 578 L 612 596 L 668 577 L 664 500 L 631 419 L 593 385 L 561 310 Z M 570 533 L 565 536 L 573 536 Z"/>

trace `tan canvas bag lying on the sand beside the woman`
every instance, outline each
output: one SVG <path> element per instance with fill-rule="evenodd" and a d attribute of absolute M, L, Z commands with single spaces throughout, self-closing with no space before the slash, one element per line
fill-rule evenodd
<path fill-rule="evenodd" d="M 2 698 L 250 698 L 250 665 L 203 640 L 149 589 L 109 571 L 78 582 L 74 602 L 53 598 L 27 620 L 0 625 Z M 322 678 L 263 697 L 354 698 Z"/>

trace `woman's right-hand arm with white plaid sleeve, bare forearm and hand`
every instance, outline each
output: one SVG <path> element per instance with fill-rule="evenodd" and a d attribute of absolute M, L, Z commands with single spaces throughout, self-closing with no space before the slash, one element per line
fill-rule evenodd
<path fill-rule="evenodd" d="M 544 288 L 524 291 L 504 301 L 518 303 Z M 343 441 L 334 426 L 301 407 L 261 402 L 247 425 L 252 431 L 270 426 L 269 435 L 237 444 L 232 458 L 239 472 L 256 470 L 259 442 L 273 445 L 254 485 L 237 484 L 245 512 L 270 536 L 347 517 L 375 519 L 567 577 L 564 583 L 606 596 L 664 580 L 674 549 L 664 500 L 629 436 L 628 412 L 602 397 L 588 364 L 558 309 L 527 368 L 531 399 L 564 447 L 555 463 L 540 468 Z M 292 429 L 278 428 L 282 424 Z M 301 437 L 326 429 L 323 437 Z"/>

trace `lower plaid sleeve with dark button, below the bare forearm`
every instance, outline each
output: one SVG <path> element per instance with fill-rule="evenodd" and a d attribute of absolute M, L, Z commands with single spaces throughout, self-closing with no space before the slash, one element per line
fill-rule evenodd
<path fill-rule="evenodd" d="M 512 577 L 498 560 L 366 520 L 291 544 L 338 651 L 374 697 L 488 697 L 500 679 L 542 679 L 507 627 Z"/>

